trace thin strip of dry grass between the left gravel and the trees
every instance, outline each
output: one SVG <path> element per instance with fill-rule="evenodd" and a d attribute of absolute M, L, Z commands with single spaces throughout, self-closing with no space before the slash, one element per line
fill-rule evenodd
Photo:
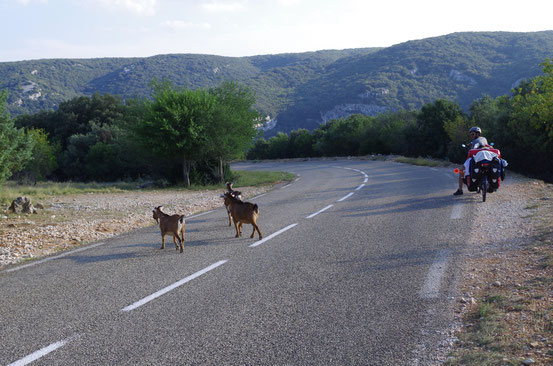
<path fill-rule="evenodd" d="M 279 181 L 292 180 L 294 175 L 285 172 L 261 172 L 261 171 L 234 171 L 234 187 L 260 186 Z M 164 188 L 168 190 L 189 189 L 223 189 L 224 184 L 209 186 L 192 186 L 190 188 L 183 186 L 173 186 Z M 20 185 L 15 182 L 6 182 L 0 190 L 0 205 L 9 206 L 17 197 L 29 197 L 32 202 L 39 202 L 51 196 L 82 194 L 82 193 L 115 193 L 124 191 L 142 191 L 136 182 L 118 182 L 118 183 L 55 183 L 39 182 L 36 185 Z"/>

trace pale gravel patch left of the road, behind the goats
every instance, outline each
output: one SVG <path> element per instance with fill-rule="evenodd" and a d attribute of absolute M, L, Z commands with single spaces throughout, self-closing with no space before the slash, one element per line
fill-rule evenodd
<path fill-rule="evenodd" d="M 240 187 L 245 198 L 269 189 L 270 186 Z M 185 216 L 221 208 L 221 193 L 163 190 L 79 194 L 41 202 L 45 209 L 34 215 L 5 211 L 0 214 L 0 268 L 153 225 L 152 210 L 156 206 L 163 206 L 166 213 Z M 224 220 L 226 214 L 221 217 Z"/>

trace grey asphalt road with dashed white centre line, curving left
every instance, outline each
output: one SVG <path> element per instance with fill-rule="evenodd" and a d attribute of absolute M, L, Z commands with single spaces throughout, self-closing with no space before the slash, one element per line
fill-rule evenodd
<path fill-rule="evenodd" d="M 237 164 L 297 179 L 187 218 L 0 272 L 0 365 L 426 365 L 452 318 L 470 200 L 451 169 Z"/>

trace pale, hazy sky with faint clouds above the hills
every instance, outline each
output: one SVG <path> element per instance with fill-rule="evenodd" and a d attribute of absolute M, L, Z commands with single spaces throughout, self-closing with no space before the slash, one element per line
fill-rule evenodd
<path fill-rule="evenodd" d="M 553 0 L 0 0 L 0 62 L 253 56 L 553 30 Z"/>

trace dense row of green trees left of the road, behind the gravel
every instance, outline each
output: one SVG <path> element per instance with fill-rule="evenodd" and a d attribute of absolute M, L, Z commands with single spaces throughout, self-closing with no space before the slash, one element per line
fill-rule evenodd
<path fill-rule="evenodd" d="M 228 161 L 243 158 L 257 136 L 251 90 L 234 82 L 209 90 L 153 86 L 149 99 L 94 94 L 15 120 L 0 92 L 0 184 L 230 179 Z"/>

